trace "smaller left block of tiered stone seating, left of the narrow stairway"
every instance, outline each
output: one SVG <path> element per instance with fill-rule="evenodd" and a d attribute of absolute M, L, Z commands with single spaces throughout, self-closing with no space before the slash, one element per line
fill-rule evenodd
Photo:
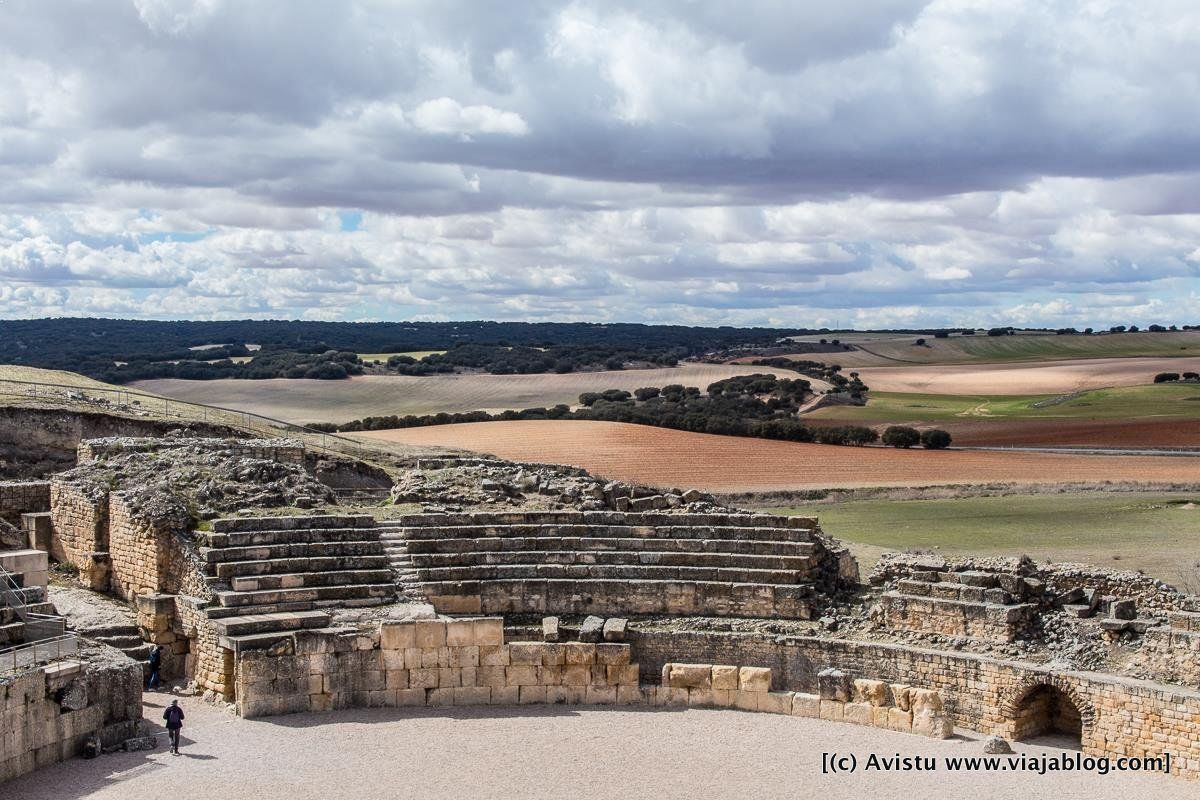
<path fill-rule="evenodd" d="M 199 555 L 216 601 L 205 613 L 230 649 L 325 627 L 326 608 L 396 597 L 389 555 L 366 516 L 216 519 Z"/>

